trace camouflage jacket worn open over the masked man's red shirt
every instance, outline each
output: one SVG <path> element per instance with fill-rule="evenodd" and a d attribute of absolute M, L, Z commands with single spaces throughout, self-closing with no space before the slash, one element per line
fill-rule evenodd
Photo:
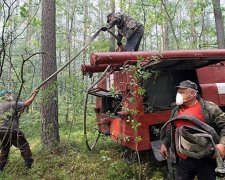
<path fill-rule="evenodd" d="M 204 101 L 202 98 L 197 97 L 201 104 L 201 110 L 206 121 L 206 124 L 213 127 L 220 136 L 220 143 L 225 145 L 225 113 L 213 102 Z M 171 112 L 171 118 L 177 115 L 180 106 L 176 106 Z M 174 131 L 175 127 L 170 126 L 165 133 L 161 132 L 161 143 L 170 147 L 170 152 L 175 152 L 174 149 Z"/>

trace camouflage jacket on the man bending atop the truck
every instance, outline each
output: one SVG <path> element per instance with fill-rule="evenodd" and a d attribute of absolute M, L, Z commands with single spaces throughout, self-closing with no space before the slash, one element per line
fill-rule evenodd
<path fill-rule="evenodd" d="M 107 28 L 111 29 L 114 25 L 118 28 L 118 38 L 130 38 L 131 35 L 140 27 L 143 26 L 138 21 L 134 20 L 131 16 L 123 13 L 115 13 L 112 15 L 111 21 L 108 23 Z"/>

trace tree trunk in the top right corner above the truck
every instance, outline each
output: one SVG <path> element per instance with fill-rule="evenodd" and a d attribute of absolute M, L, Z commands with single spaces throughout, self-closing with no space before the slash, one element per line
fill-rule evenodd
<path fill-rule="evenodd" d="M 225 48 L 223 16 L 221 12 L 220 0 L 212 0 L 213 11 L 216 23 L 216 36 L 219 49 Z"/>

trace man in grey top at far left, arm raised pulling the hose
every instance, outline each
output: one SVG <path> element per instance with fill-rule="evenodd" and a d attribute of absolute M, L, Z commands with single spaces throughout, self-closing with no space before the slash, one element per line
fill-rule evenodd
<path fill-rule="evenodd" d="M 31 168 L 33 163 L 32 153 L 23 132 L 19 129 L 19 118 L 24 108 L 31 105 L 37 93 L 38 89 L 35 89 L 26 101 L 16 103 L 13 100 L 12 92 L 0 91 L 0 171 L 3 171 L 7 163 L 12 145 L 20 150 L 26 168 Z"/>

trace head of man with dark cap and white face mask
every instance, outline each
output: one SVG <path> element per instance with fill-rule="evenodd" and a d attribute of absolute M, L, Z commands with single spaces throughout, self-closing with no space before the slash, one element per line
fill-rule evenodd
<path fill-rule="evenodd" d="M 196 101 L 197 95 L 197 85 L 190 81 L 185 80 L 180 82 L 179 86 L 176 86 L 177 89 L 177 96 L 176 96 L 176 104 L 182 105 L 189 104 Z"/>

